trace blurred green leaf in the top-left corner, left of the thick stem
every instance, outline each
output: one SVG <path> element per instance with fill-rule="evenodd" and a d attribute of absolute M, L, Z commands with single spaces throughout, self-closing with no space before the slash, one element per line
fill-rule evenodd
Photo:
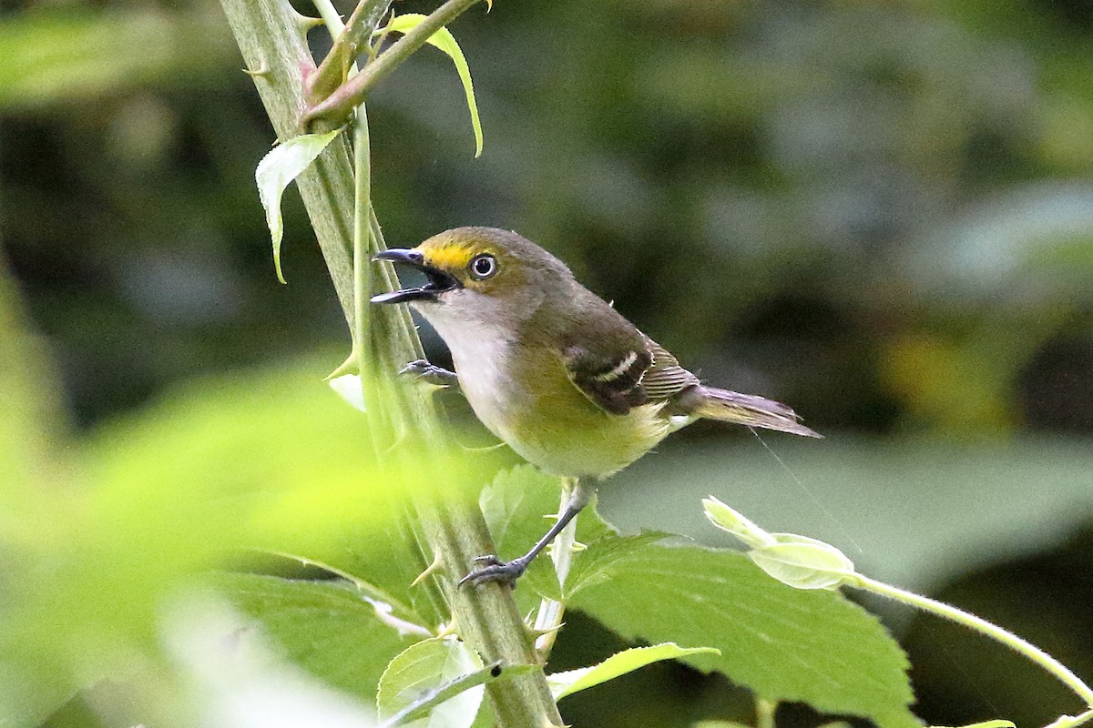
<path fill-rule="evenodd" d="M 211 13 L 58 8 L 10 14 L 0 21 L 0 109 L 223 79 L 237 52 L 225 23 Z"/>

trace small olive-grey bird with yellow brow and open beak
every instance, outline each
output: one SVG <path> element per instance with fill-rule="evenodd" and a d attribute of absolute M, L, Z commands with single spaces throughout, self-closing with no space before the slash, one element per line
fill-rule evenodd
<path fill-rule="evenodd" d="M 565 263 L 516 232 L 460 227 L 374 259 L 425 274 L 425 285 L 372 301 L 413 306 L 448 345 L 456 368 L 419 360 L 403 371 L 458 384 L 491 432 L 572 484 L 562 515 L 530 551 L 507 562 L 483 557 L 460 584 L 515 583 L 600 479 L 696 419 L 820 437 L 786 405 L 702 384 L 577 283 Z"/>

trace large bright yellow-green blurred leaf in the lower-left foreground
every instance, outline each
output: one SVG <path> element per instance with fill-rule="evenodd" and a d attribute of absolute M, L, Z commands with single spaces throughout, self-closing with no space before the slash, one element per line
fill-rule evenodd
<path fill-rule="evenodd" d="M 164 595 L 242 550 L 321 558 L 346 533 L 383 530 L 413 486 L 380 474 L 363 418 L 321 371 L 176 391 L 80 447 L 84 490 L 43 489 L 5 513 L 0 549 L 19 578 L 4 575 L 0 602 L 3 715 L 40 718 L 49 706 L 32 699 L 144 664 Z"/>

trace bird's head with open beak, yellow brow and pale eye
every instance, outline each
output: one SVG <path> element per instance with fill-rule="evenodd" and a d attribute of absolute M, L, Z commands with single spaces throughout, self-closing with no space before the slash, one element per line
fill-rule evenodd
<path fill-rule="evenodd" d="M 435 235 L 416 248 L 392 248 L 375 260 L 416 268 L 426 283 L 372 298 L 373 303 L 410 302 L 426 318 L 458 314 L 495 321 L 538 308 L 548 290 L 572 281 L 569 270 L 515 232 L 460 227 Z"/>

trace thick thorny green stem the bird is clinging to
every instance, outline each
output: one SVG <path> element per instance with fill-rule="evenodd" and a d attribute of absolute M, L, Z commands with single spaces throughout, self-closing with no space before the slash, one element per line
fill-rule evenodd
<path fill-rule="evenodd" d="M 221 4 L 246 67 L 256 72 L 251 77 L 278 139 L 304 133 L 299 124 L 305 108 L 302 70 L 314 69 L 304 38 L 306 19 L 285 0 L 221 0 Z M 330 143 L 296 183 L 350 331 L 356 332 L 352 255 L 354 180 L 344 134 Z M 368 215 L 368 227 L 373 244 L 381 247 L 383 232 L 374 214 Z M 374 268 L 373 283 L 384 290 L 398 285 L 388 266 Z M 373 341 L 380 343 L 378 366 L 386 375 L 393 375 L 407 361 L 421 357 L 421 342 L 404 307 L 380 307 L 372 311 L 369 326 Z M 408 423 L 412 427 L 407 435 L 408 443 L 423 455 L 443 450 L 446 437 L 432 399 L 422 387 L 398 387 L 398 391 L 407 403 Z M 423 467 L 428 467 L 427 462 Z M 443 484 L 446 474 L 438 472 L 434 477 Z M 415 496 L 413 508 L 427 552 L 439 558 L 440 587 L 447 595 L 460 636 L 487 664 L 494 660 L 505 665 L 536 664 L 532 641 L 508 588 L 496 584 L 477 589 L 455 586 L 455 581 L 466 573 L 474 557 L 492 551 L 493 545 L 477 504 L 461 494 L 430 490 Z M 540 669 L 510 680 L 493 681 L 486 685 L 486 695 L 502 728 L 562 725 Z"/>

